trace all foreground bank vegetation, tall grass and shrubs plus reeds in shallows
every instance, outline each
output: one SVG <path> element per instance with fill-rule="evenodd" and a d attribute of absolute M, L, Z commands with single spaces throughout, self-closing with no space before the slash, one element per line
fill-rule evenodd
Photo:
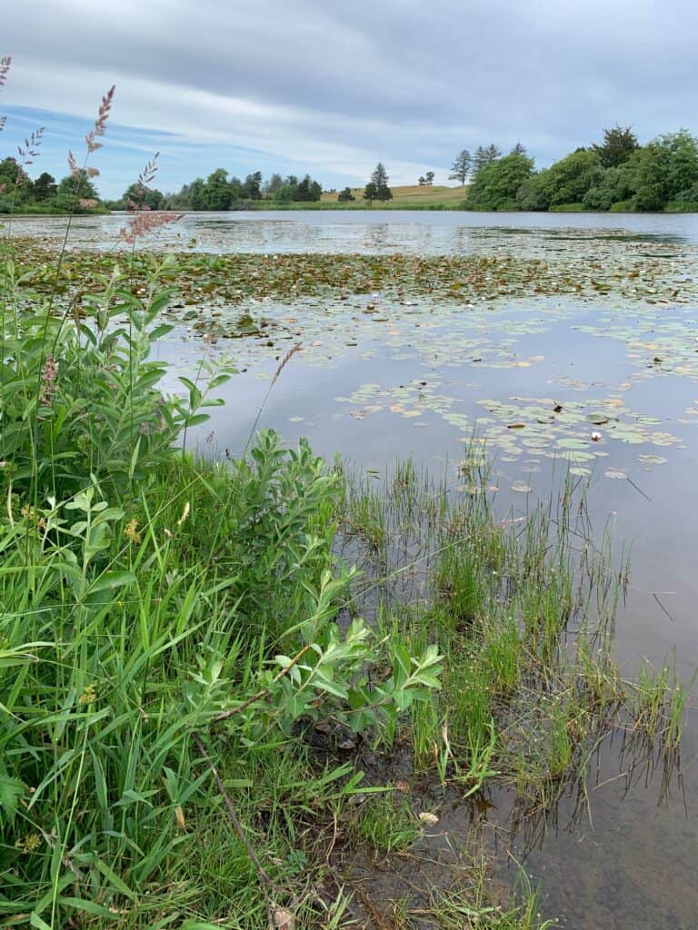
<path fill-rule="evenodd" d="M 614 664 L 627 565 L 580 489 L 515 518 L 475 451 L 459 493 L 254 427 L 193 455 L 235 373 L 161 392 L 169 259 L 76 312 L 2 247 L 0 925 L 554 925 L 477 830 L 429 844 L 492 784 L 584 804 L 613 737 L 680 772 L 688 692 Z"/>

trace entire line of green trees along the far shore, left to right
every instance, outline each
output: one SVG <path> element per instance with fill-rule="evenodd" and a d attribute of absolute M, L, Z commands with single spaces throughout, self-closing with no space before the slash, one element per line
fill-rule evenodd
<path fill-rule="evenodd" d="M 507 154 L 490 143 L 472 154 L 467 149 L 458 153 L 449 177 L 463 185 L 463 207 L 472 210 L 698 211 L 698 140 L 679 129 L 640 145 L 631 126 L 612 126 L 603 130 L 600 142 L 541 170 L 520 142 Z M 391 200 L 388 180 L 379 162 L 362 199 L 369 206 Z M 434 172 L 427 171 L 419 184 L 433 181 Z M 118 200 L 101 201 L 87 172 L 60 181 L 47 172 L 31 179 L 16 159 L 0 161 L 0 213 L 87 213 L 134 204 L 152 210 L 231 210 L 257 201 L 312 203 L 322 193 L 310 174 L 275 173 L 264 180 L 255 171 L 241 180 L 217 168 L 176 193 L 132 184 Z M 338 200 L 347 203 L 356 196 L 346 187 Z"/>

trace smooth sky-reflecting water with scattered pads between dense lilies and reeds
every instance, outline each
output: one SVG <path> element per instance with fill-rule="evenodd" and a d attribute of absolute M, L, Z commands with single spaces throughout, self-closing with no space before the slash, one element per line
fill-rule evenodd
<path fill-rule="evenodd" d="M 363 467 L 383 470 L 411 456 L 437 471 L 448 460 L 453 476 L 463 439 L 477 432 L 495 461 L 503 509 L 526 505 L 525 495 L 509 490 L 514 482 L 547 496 L 553 472 L 560 475 L 568 464 L 588 469 L 597 528 L 612 513 L 616 538 L 633 541 L 632 609 L 620 623 L 621 654 L 660 660 L 680 644 L 679 664 L 689 671 L 698 665 L 694 530 L 686 518 L 698 493 L 698 417 L 685 411 L 698 398 L 698 383 L 636 368 L 621 340 L 580 331 L 597 323 L 597 309 L 556 306 L 542 301 L 526 309 L 513 304 L 467 313 L 441 308 L 435 318 L 409 308 L 409 325 L 407 315 L 401 328 L 393 317 L 365 330 L 363 323 L 344 325 L 337 339 L 324 331 L 324 317 L 310 328 L 308 312 L 305 348 L 276 383 L 262 426 L 291 443 L 307 435 L 329 459 L 341 450 Z M 294 312 L 300 319 L 302 311 Z M 212 431 L 215 445 L 233 452 L 245 445 L 277 358 L 291 344 L 236 339 L 208 349 L 231 353 L 248 370 L 223 389 L 226 405 L 212 410 L 198 435 Z M 198 339 L 187 339 L 168 342 L 161 351 L 191 375 L 206 350 Z M 559 414 L 555 403 L 562 406 Z M 586 419 L 599 410 L 607 412 L 608 423 Z M 518 420 L 525 426 L 509 429 Z M 600 443 L 591 441 L 594 431 L 601 432 Z M 651 591 L 675 591 L 663 598 L 674 623 Z"/>

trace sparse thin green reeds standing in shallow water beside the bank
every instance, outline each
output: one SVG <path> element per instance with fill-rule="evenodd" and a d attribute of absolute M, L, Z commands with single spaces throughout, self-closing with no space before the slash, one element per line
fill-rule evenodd
<path fill-rule="evenodd" d="M 584 783 L 615 734 L 626 754 L 676 751 L 688 691 L 668 669 L 622 678 L 612 649 L 627 563 L 607 536 L 592 540 L 584 492 L 567 481 L 524 515 L 498 514 L 476 447 L 461 492 L 396 468 L 383 487 L 385 558 L 355 594 L 378 605 L 388 639 L 444 654 L 442 691 L 404 730 L 418 768 L 471 788 L 505 779 L 550 804 Z M 370 578 L 354 515 L 379 492 L 342 478 L 341 537 Z"/>

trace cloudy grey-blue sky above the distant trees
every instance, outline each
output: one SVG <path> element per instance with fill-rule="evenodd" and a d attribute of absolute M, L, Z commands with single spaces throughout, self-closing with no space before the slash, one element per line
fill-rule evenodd
<path fill-rule="evenodd" d="M 115 84 L 107 196 L 157 150 L 166 190 L 219 166 L 333 187 L 379 159 L 395 184 L 446 181 L 490 141 L 545 166 L 617 122 L 698 130 L 692 0 L 32 0 L 2 19 L 0 155 L 46 126 L 32 170 L 67 173 Z"/>

